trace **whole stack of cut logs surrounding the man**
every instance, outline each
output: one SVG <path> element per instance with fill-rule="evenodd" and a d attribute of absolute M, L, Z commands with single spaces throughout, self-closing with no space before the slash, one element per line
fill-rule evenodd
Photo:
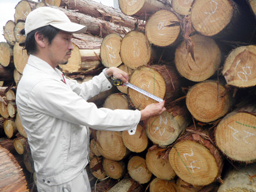
<path fill-rule="evenodd" d="M 122 12 L 89 0 L 16 5 L 0 43 L 0 190 L 36 191 L 15 93 L 27 62 L 26 16 L 40 6 L 88 26 L 59 68 L 89 81 L 105 67 L 166 101 L 136 134 L 91 130 L 92 191 L 256 191 L 256 3 L 252 0 L 119 0 Z M 154 100 L 119 86 L 89 100 L 144 109 Z M 239 178 L 239 179 L 238 179 Z M 13 183 L 13 180 L 16 182 Z"/>

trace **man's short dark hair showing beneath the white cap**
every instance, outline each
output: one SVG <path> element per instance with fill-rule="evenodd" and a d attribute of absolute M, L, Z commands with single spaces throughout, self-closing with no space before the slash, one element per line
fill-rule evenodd
<path fill-rule="evenodd" d="M 44 37 L 46 37 L 49 41 L 49 44 L 51 44 L 51 41 L 53 41 L 54 37 L 58 32 L 60 32 L 60 30 L 54 28 L 53 26 L 47 25 L 47 26 L 35 29 L 29 34 L 27 34 L 24 49 L 27 51 L 28 55 L 37 52 L 36 40 L 34 39 L 34 34 L 36 34 L 36 32 L 39 32 Z M 20 34 L 25 34 L 25 30 L 21 30 Z"/>

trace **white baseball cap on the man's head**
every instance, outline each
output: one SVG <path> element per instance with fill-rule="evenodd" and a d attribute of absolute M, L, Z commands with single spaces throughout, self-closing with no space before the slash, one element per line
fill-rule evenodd
<path fill-rule="evenodd" d="M 71 33 L 84 33 L 87 30 L 87 26 L 72 23 L 64 12 L 44 6 L 34 9 L 27 15 L 25 22 L 25 36 L 33 30 L 47 25 Z"/>

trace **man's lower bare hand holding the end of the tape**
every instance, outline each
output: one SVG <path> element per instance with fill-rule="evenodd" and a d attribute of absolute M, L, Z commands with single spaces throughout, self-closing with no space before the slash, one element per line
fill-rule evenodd
<path fill-rule="evenodd" d="M 164 112 L 166 109 L 164 107 L 165 101 L 161 103 L 152 103 L 148 104 L 148 106 L 145 107 L 145 109 L 141 110 L 141 117 L 140 120 L 146 120 L 147 118 L 154 117 L 154 116 L 159 116 Z"/>

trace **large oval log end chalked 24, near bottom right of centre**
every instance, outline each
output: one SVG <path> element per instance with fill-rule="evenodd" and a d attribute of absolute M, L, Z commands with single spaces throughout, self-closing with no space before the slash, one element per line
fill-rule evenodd
<path fill-rule="evenodd" d="M 175 144 L 169 162 L 178 177 L 195 186 L 206 186 L 219 175 L 215 157 L 198 142 L 185 140 Z"/>

